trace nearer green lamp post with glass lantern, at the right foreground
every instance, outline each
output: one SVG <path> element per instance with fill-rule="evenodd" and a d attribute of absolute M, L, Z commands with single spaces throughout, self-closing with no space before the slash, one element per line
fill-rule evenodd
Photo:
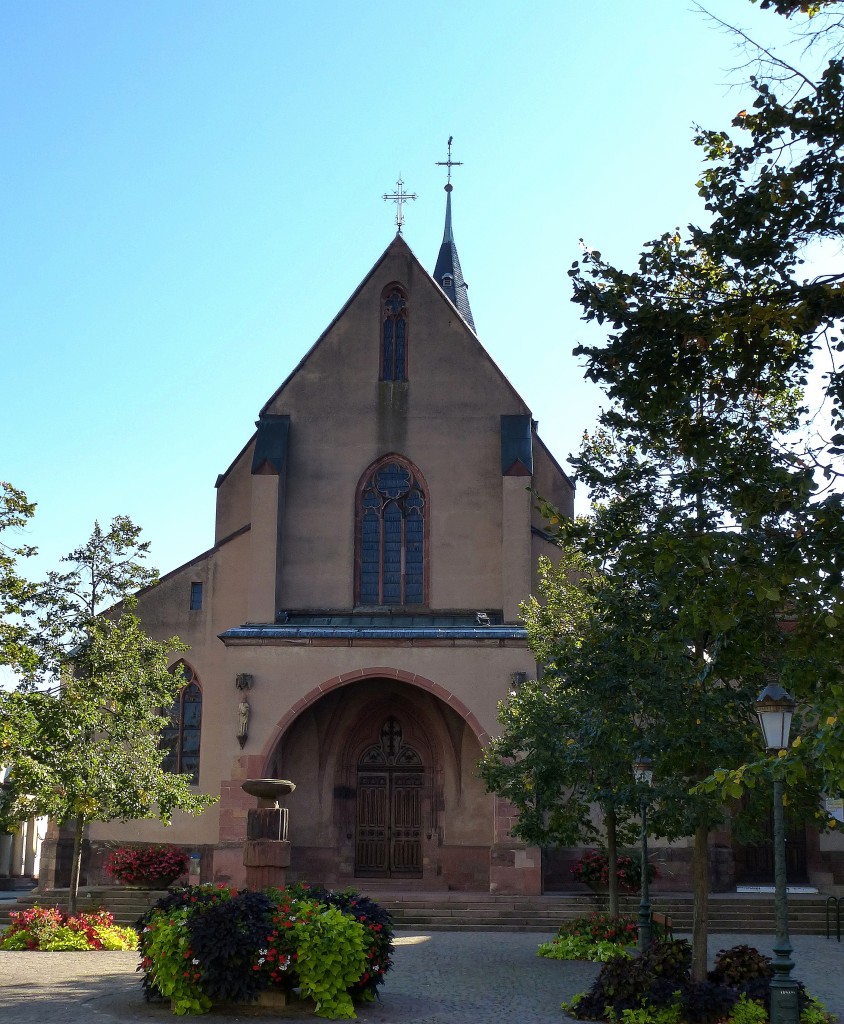
<path fill-rule="evenodd" d="M 756 699 L 756 714 L 765 750 L 769 754 L 785 751 L 797 701 L 777 683 L 769 683 Z M 770 980 L 770 1024 L 798 1024 L 800 1009 L 797 982 L 791 977 L 794 967 L 789 939 L 789 904 L 786 882 L 786 825 L 783 814 L 783 777 L 774 765 L 773 774 L 773 901 L 776 914 L 776 940 L 773 945 L 773 977 Z"/>

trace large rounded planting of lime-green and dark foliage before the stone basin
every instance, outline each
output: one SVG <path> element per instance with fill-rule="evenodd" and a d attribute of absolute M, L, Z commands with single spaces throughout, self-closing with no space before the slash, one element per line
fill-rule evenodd
<path fill-rule="evenodd" d="M 176 1014 L 298 988 L 318 1016 L 353 1018 L 353 1000 L 374 999 L 391 963 L 389 914 L 352 890 L 195 886 L 138 927 L 144 994 Z"/>

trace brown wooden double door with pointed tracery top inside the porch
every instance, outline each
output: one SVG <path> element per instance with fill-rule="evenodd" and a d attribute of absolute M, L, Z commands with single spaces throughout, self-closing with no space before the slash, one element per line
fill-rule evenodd
<path fill-rule="evenodd" d="M 357 764 L 354 874 L 422 878 L 424 766 L 390 716 Z"/>

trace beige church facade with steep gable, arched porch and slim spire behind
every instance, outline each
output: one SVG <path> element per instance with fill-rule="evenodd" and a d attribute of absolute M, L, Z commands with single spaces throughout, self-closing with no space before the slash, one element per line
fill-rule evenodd
<path fill-rule="evenodd" d="M 399 229 L 219 476 L 213 546 L 140 595 L 191 645 L 169 766 L 220 799 L 93 824 L 89 882 L 109 846 L 167 841 L 243 884 L 241 783 L 277 777 L 290 878 L 541 890 L 475 768 L 536 672 L 518 606 L 554 548 L 531 488 L 572 513 L 574 487 L 475 334 L 447 194 L 434 273 Z"/>

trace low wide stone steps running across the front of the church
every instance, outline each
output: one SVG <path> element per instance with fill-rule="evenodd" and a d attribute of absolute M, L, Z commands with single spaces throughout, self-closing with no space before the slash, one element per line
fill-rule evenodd
<path fill-rule="evenodd" d="M 362 892 L 387 909 L 399 930 L 407 931 L 509 931 L 554 933 L 563 921 L 606 909 L 605 896 L 566 895 L 498 896 L 490 893 L 400 892 L 376 885 L 360 886 Z M 119 924 L 135 921 L 162 896 L 163 892 L 120 888 L 82 888 L 79 908 L 111 910 Z M 691 931 L 691 895 L 655 893 L 652 908 L 666 913 L 674 931 Z M 0 903 L 0 927 L 9 923 L 9 912 L 33 906 L 68 905 L 68 890 L 29 893 L 15 902 Z M 789 931 L 794 935 L 826 935 L 827 897 L 824 894 L 789 896 Z M 638 898 L 623 896 L 623 913 L 635 916 Z M 832 923 L 835 934 L 835 922 Z M 709 900 L 710 933 L 759 933 L 773 935 L 774 906 L 769 893 L 753 895 L 717 893 Z"/>

